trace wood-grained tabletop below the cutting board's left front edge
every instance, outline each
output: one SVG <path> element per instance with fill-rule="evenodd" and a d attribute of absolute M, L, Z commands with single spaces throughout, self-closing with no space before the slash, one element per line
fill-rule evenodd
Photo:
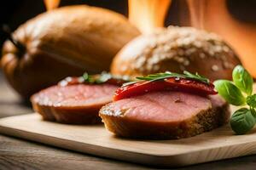
<path fill-rule="evenodd" d="M 0 169 L 147 169 L 136 164 L 82 155 L 0 136 Z M 15 144 L 14 144 L 15 143 Z"/>

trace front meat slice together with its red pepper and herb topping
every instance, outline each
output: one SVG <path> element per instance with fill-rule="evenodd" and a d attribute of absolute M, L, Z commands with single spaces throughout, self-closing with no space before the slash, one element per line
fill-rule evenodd
<path fill-rule="evenodd" d="M 187 71 L 137 77 L 118 88 L 100 116 L 109 131 L 138 139 L 180 139 L 228 122 L 227 102 L 207 78 Z"/>

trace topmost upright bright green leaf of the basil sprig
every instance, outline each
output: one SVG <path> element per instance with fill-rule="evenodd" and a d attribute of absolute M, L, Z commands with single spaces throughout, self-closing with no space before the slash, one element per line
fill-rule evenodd
<path fill-rule="evenodd" d="M 233 82 L 237 88 L 247 95 L 253 92 L 253 77 L 241 65 L 236 65 L 232 72 Z"/>

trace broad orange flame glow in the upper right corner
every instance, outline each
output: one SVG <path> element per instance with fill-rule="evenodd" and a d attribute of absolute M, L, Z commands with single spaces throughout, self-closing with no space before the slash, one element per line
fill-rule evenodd
<path fill-rule="evenodd" d="M 187 0 L 191 26 L 216 32 L 256 77 L 256 25 L 234 19 L 224 0 Z M 244 2 L 246 3 L 246 2 Z"/>

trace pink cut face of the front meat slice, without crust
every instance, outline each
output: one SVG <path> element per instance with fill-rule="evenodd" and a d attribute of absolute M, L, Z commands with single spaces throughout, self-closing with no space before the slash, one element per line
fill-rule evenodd
<path fill-rule="evenodd" d="M 181 92 L 158 92 L 121 99 L 102 114 L 125 116 L 146 122 L 180 122 L 212 108 L 210 99 Z"/>

